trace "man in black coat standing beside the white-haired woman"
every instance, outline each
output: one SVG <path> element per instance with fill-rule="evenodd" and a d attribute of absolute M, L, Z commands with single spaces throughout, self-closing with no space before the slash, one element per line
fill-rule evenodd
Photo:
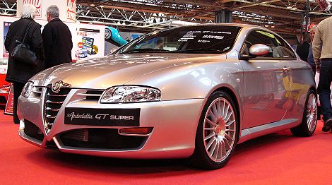
<path fill-rule="evenodd" d="M 67 25 L 59 19 L 59 8 L 51 5 L 46 10 L 47 25 L 42 30 L 44 40 L 45 67 L 71 62 L 71 32 Z"/>

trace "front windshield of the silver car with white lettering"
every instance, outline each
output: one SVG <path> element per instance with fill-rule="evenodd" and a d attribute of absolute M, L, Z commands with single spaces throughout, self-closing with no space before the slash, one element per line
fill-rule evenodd
<path fill-rule="evenodd" d="M 232 49 L 240 29 L 226 25 L 199 25 L 151 32 L 126 44 L 117 54 L 223 53 Z"/>

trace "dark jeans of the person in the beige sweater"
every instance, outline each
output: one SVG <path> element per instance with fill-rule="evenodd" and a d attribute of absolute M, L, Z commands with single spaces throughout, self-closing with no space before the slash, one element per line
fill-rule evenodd
<path fill-rule="evenodd" d="M 321 114 L 323 120 L 332 119 L 331 107 L 331 80 L 332 80 L 332 59 L 321 60 L 321 73 L 319 74 L 318 94 L 321 102 Z"/>

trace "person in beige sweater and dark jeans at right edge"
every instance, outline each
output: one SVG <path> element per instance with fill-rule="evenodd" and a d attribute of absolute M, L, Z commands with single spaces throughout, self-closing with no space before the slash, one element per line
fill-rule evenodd
<path fill-rule="evenodd" d="M 323 131 L 331 130 L 332 107 L 331 107 L 331 80 L 332 80 L 332 17 L 322 20 L 316 27 L 312 52 L 319 74 L 318 94 L 323 114 Z"/>

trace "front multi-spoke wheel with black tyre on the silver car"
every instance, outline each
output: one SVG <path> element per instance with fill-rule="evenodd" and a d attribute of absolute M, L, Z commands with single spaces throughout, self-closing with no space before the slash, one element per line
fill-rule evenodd
<path fill-rule="evenodd" d="M 198 123 L 195 150 L 190 165 L 218 169 L 227 164 L 239 138 L 239 121 L 235 104 L 227 93 L 213 93 L 203 108 Z"/>

